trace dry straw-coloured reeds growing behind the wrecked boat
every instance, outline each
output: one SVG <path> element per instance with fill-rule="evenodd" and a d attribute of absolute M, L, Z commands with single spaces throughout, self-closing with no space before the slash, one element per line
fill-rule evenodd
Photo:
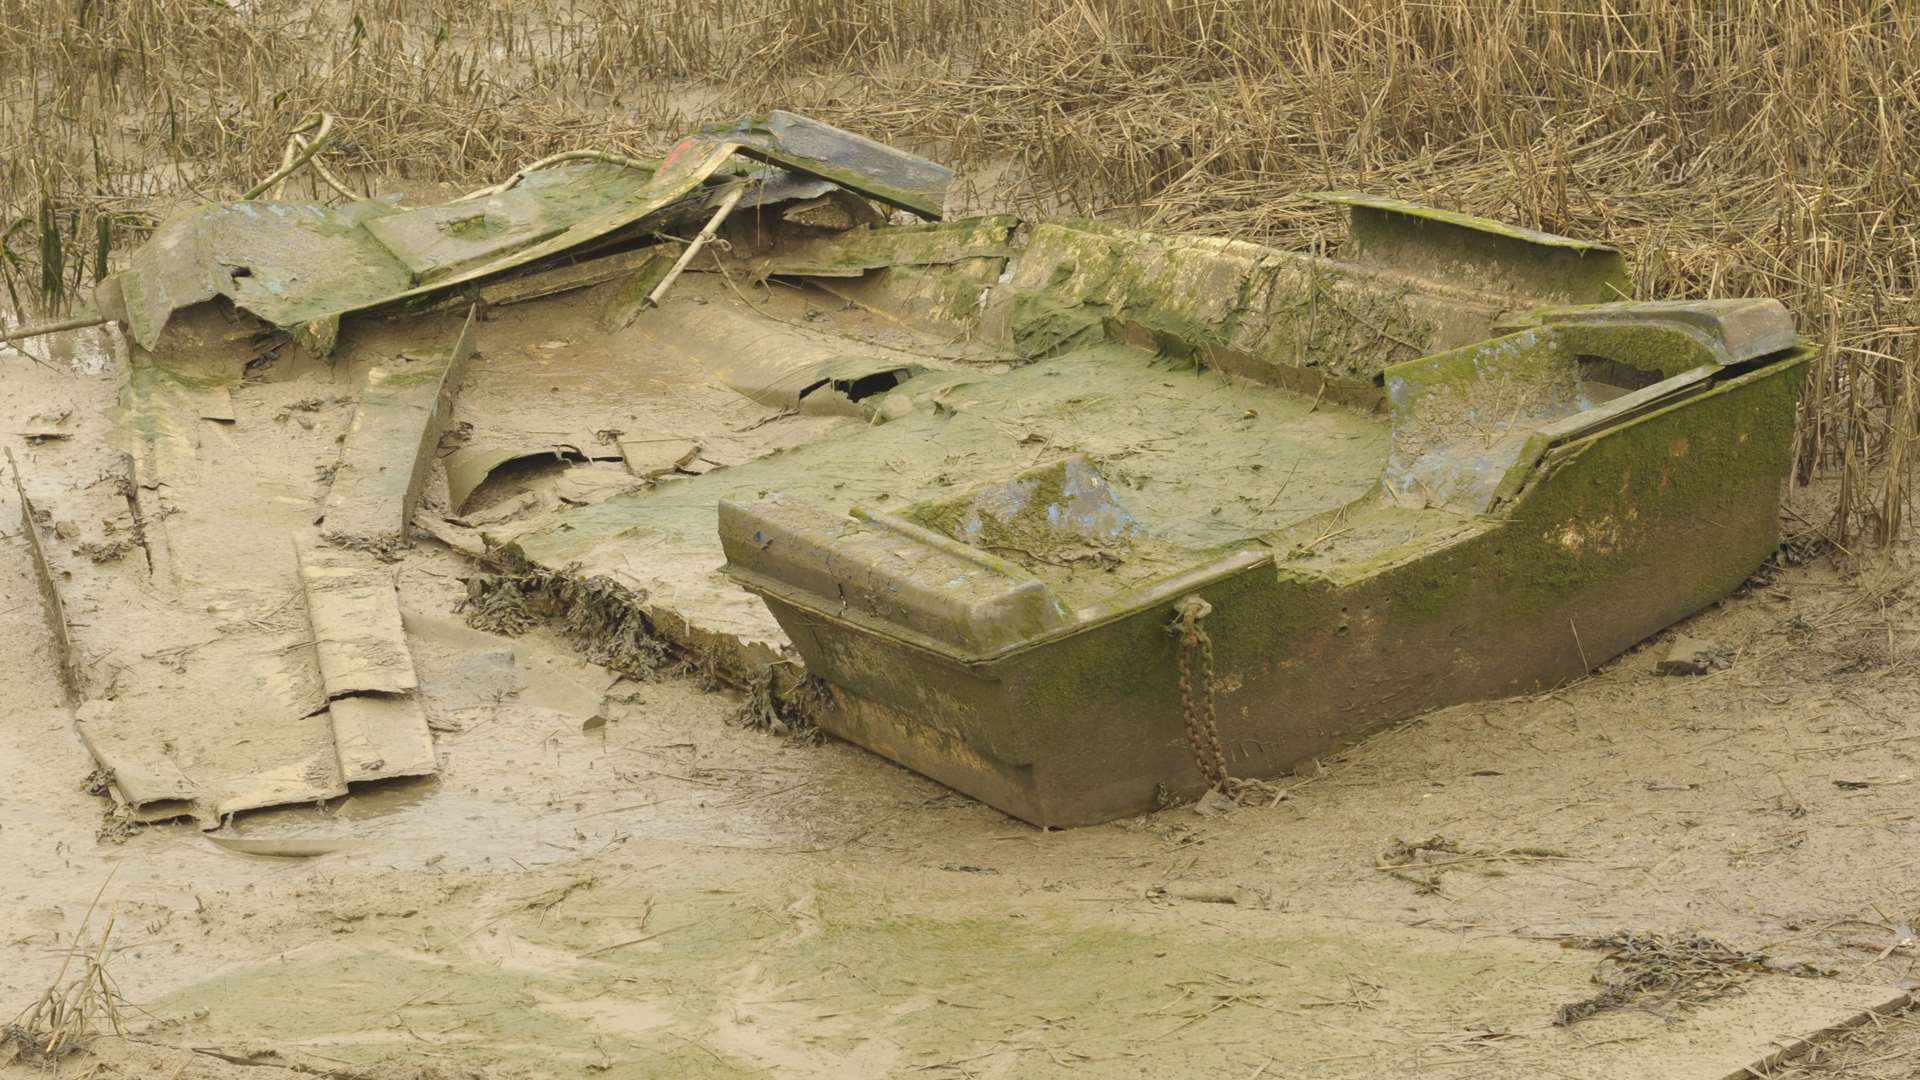
<path fill-rule="evenodd" d="M 0 0 L 0 279 L 84 284 L 156 198 L 340 117 L 349 183 L 470 184 L 787 104 L 991 177 L 983 206 L 1313 248 L 1359 186 L 1620 242 L 1647 296 L 1820 344 L 1801 479 L 1903 530 L 1920 417 L 1920 8 L 1853 0 Z M 303 194 L 300 186 L 292 194 Z"/>

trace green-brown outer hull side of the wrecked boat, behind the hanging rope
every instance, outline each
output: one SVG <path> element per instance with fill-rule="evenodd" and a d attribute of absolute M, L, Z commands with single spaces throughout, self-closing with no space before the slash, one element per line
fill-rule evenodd
<path fill-rule="evenodd" d="M 739 569 L 812 675 L 820 724 L 1014 817 L 1075 826 L 1210 786 L 1183 726 L 1175 605 L 1212 605 L 1219 738 L 1277 776 L 1384 723 L 1578 678 L 1738 588 L 1776 548 L 1807 352 L 1551 450 L 1501 519 L 1300 573 L 1254 555 L 985 661 Z M 745 557 L 764 525 L 722 507 Z"/>

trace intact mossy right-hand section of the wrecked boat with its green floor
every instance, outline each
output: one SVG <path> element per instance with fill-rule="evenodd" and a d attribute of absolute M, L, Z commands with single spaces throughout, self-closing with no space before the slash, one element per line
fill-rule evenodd
<path fill-rule="evenodd" d="M 1523 244 L 1515 273 L 1599 250 L 1494 234 Z M 895 240 L 925 236 L 964 233 Z M 730 311 L 689 332 L 733 340 Z M 1271 776 L 1574 678 L 1764 559 L 1803 359 L 1776 348 L 1784 311 L 1530 311 L 1498 279 L 1043 225 L 977 327 L 1031 363 L 914 375 L 849 402 L 866 427 L 566 511 L 509 552 L 620 582 L 732 678 L 791 646 L 833 686 L 824 726 L 1008 813 L 1106 821 L 1202 786 L 1167 632 L 1188 594 L 1213 605 L 1229 769 Z M 1369 392 L 1382 411 L 1334 404 Z M 722 500 L 743 515 L 724 553 Z M 854 505 L 906 528 L 845 525 Z"/>

